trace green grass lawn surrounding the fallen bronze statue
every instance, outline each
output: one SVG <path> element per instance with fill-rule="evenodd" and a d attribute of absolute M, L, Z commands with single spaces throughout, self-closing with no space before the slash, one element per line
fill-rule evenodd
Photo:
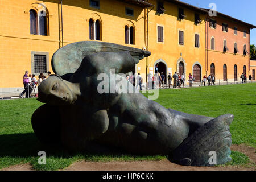
<path fill-rule="evenodd" d="M 167 108 L 209 117 L 234 114 L 234 121 L 230 125 L 233 144 L 244 143 L 256 147 L 256 84 L 159 90 L 159 98 L 155 101 Z M 27 162 L 34 169 L 57 170 L 76 160 L 166 159 L 166 156 L 160 155 L 70 154 L 58 146 L 43 146 L 31 127 L 31 115 L 40 105 L 42 103 L 35 98 L 0 101 L 0 169 Z M 38 152 L 41 150 L 46 151 L 46 165 L 38 164 Z M 248 163 L 248 158 L 240 152 L 232 151 L 232 158 L 233 162 L 229 165 Z"/>

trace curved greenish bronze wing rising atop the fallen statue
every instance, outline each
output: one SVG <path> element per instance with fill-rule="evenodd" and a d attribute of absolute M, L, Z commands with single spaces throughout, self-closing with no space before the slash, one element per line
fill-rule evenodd
<path fill-rule="evenodd" d="M 63 79 L 68 78 L 79 68 L 82 59 L 86 55 L 97 52 L 121 52 L 129 51 L 136 63 L 144 57 L 150 56 L 150 52 L 141 49 L 122 46 L 114 43 L 82 41 L 68 44 L 58 49 L 52 56 L 52 69 L 56 75 Z"/>

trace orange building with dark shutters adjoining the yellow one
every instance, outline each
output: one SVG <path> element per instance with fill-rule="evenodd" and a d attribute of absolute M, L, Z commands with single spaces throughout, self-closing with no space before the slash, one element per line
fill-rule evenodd
<path fill-rule="evenodd" d="M 242 73 L 249 75 L 252 28 L 256 27 L 222 13 L 208 16 L 205 73 L 214 74 L 220 82 L 236 82 Z"/>

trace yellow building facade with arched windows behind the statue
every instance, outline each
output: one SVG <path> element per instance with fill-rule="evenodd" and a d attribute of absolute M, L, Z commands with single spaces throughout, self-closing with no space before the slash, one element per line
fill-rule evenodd
<path fill-rule="evenodd" d="M 196 74 L 198 81 L 205 74 L 207 11 L 187 3 L 5 0 L 0 6 L 0 95 L 22 90 L 26 70 L 36 76 L 42 67 L 44 73 L 52 72 L 51 59 L 57 49 L 86 40 L 148 49 L 151 56 L 134 70 L 144 82 L 148 73 L 183 72 L 186 82 L 189 73 Z M 200 21 L 195 23 L 196 19 Z"/>

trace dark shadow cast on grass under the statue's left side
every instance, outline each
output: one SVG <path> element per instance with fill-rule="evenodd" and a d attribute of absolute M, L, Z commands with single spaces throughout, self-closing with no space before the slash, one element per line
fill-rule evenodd
<path fill-rule="evenodd" d="M 39 151 L 45 151 L 47 156 L 54 158 L 72 158 L 73 156 L 83 156 L 84 159 L 95 159 L 105 156 L 112 158 L 150 158 L 150 155 L 134 155 L 123 151 L 121 148 L 102 146 L 93 143 L 90 145 L 90 151 L 72 152 L 66 150 L 61 144 L 43 144 L 39 142 L 34 133 L 24 134 L 5 134 L 0 135 L 0 158 L 2 157 L 18 157 L 30 158 L 39 157 Z"/>

